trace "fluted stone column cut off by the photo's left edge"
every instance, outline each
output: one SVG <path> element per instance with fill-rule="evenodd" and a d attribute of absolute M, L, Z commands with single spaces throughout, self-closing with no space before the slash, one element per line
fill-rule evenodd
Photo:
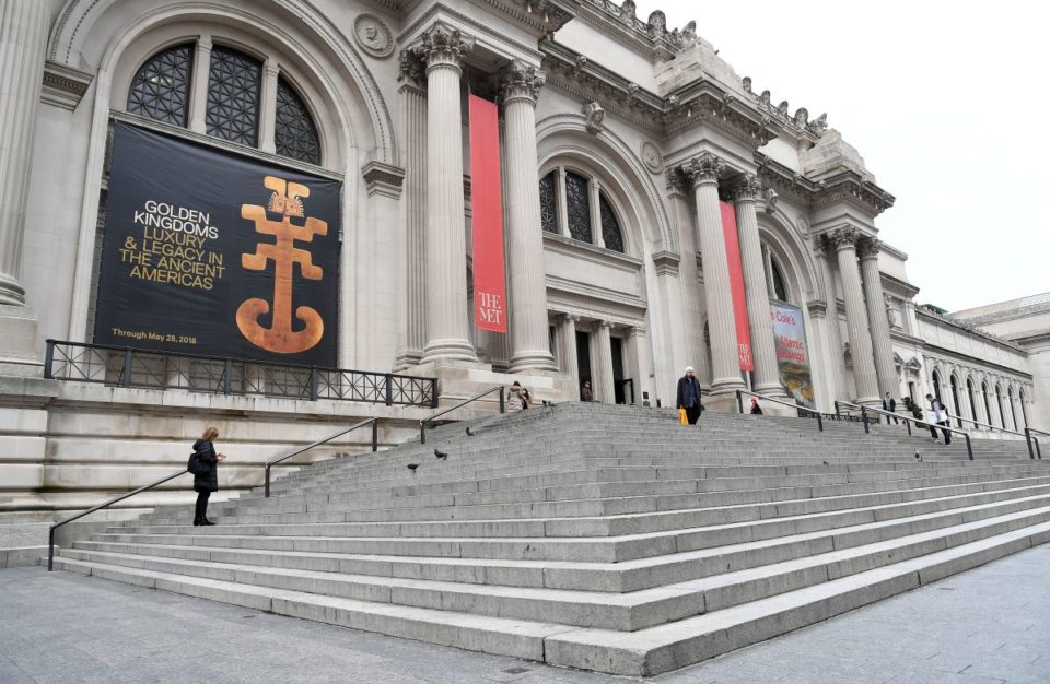
<path fill-rule="evenodd" d="M 0 305 L 25 304 L 22 238 L 48 3 L 0 0 Z"/>

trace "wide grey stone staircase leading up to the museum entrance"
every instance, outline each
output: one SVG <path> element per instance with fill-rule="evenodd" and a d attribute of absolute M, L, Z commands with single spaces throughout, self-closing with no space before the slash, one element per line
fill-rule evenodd
<path fill-rule="evenodd" d="M 1050 462 L 1024 443 L 975 440 L 970 461 L 903 426 L 675 417 L 561 404 L 450 424 L 214 505 L 215 527 L 161 507 L 55 563 L 644 676 L 1050 541 Z"/>

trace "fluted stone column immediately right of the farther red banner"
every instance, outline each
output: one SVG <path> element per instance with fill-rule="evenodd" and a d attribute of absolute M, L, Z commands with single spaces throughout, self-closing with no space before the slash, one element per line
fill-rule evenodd
<path fill-rule="evenodd" d="M 736 229 L 740 240 L 740 262 L 744 269 L 744 291 L 747 298 L 747 322 L 751 330 L 751 357 L 755 362 L 755 391 L 771 397 L 786 397 L 780 384 L 777 345 L 769 318 L 769 288 L 762 260 L 762 244 L 758 237 L 758 215 L 755 200 L 761 192 L 758 178 L 747 175 L 733 189 L 736 210 Z"/>

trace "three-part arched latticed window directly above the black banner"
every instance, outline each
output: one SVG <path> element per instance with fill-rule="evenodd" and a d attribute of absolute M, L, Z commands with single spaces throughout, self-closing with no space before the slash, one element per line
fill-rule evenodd
<path fill-rule="evenodd" d="M 194 56 L 186 43 L 166 48 L 145 61 L 131 81 L 127 110 L 165 123 L 189 126 Z M 283 75 L 272 82 L 272 140 L 260 141 L 264 62 L 231 47 L 215 45 L 208 64 L 203 128 L 209 135 L 252 148 L 268 148 L 289 158 L 320 164 L 320 137 L 305 101 Z M 273 102 L 271 101 L 271 102 Z"/>

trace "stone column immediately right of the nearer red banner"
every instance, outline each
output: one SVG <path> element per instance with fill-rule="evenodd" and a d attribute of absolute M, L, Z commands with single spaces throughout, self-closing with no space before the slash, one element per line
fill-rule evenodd
<path fill-rule="evenodd" d="M 515 59 L 503 75 L 511 373 L 556 370 L 547 339 L 547 278 L 539 217 L 536 97 L 546 75 Z"/>

